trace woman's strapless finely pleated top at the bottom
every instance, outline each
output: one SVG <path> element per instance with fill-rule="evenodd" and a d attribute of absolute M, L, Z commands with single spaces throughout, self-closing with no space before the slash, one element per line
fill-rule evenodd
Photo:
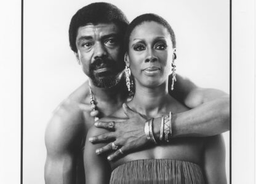
<path fill-rule="evenodd" d="M 110 183 L 204 183 L 198 164 L 175 159 L 139 159 L 116 167 Z"/>

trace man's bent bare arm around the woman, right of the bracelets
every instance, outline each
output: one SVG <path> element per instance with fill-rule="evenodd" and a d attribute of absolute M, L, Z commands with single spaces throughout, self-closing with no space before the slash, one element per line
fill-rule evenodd
<path fill-rule="evenodd" d="M 220 90 L 199 88 L 180 75 L 177 75 L 177 81 L 175 90 L 169 90 L 170 94 L 191 110 L 172 116 L 173 137 L 214 136 L 230 129 L 228 94 Z"/>

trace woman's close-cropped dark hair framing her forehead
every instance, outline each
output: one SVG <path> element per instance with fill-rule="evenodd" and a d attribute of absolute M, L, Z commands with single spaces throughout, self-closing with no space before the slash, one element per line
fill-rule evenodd
<path fill-rule="evenodd" d="M 159 23 L 160 25 L 164 26 L 168 32 L 170 33 L 170 39 L 172 40 L 172 47 L 176 47 L 176 39 L 175 39 L 175 34 L 174 30 L 172 27 L 169 25 L 169 23 L 164 20 L 164 18 L 160 17 L 159 15 L 156 15 L 154 13 L 146 13 L 143 15 L 140 15 L 136 17 L 130 25 L 126 29 L 126 34 L 124 36 L 124 47 L 126 48 L 126 51 L 129 48 L 129 39 L 130 39 L 130 34 L 134 30 L 134 28 L 138 25 L 141 25 L 145 21 L 155 21 L 156 23 Z"/>

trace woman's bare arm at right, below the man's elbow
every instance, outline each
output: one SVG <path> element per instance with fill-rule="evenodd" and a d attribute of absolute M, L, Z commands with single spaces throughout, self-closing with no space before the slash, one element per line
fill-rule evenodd
<path fill-rule="evenodd" d="M 225 143 L 222 135 L 206 138 L 204 174 L 208 184 L 226 184 Z"/>

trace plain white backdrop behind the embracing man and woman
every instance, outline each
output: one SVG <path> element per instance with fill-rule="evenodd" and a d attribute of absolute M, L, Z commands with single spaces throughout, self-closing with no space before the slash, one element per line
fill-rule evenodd
<path fill-rule="evenodd" d="M 44 183 L 44 131 L 51 112 L 87 78 L 68 42 L 74 13 L 95 1 L 24 2 L 24 123 L 23 182 Z M 157 13 L 177 36 L 177 72 L 194 83 L 229 93 L 229 1 L 106 1 L 131 21 L 142 13 Z M 229 133 L 225 133 L 229 180 Z"/>

